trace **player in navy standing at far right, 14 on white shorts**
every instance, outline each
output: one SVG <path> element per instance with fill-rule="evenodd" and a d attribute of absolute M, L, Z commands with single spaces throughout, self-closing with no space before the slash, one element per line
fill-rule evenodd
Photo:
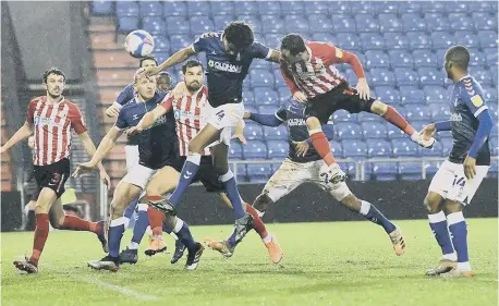
<path fill-rule="evenodd" d="M 467 73 L 468 63 L 470 52 L 465 47 L 447 50 L 443 66 L 447 77 L 454 82 L 449 100 L 451 117 L 426 125 L 421 132 L 429 138 L 436 132 L 451 131 L 453 138 L 452 150 L 431 180 L 425 198 L 429 227 L 443 254 L 440 265 L 428 270 L 427 276 L 471 278 L 474 274 L 467 255 L 463 208 L 471 203 L 490 168 L 488 136 L 494 122 L 484 103 L 480 84 Z"/>

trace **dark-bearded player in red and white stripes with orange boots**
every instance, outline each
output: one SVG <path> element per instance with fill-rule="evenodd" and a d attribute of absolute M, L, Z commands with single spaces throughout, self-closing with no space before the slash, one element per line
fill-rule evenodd
<path fill-rule="evenodd" d="M 188 143 L 196 137 L 197 133 L 206 124 L 206 113 L 205 109 L 208 105 L 208 89 L 204 86 L 204 71 L 203 65 L 198 61 L 187 61 L 182 66 L 182 73 L 184 75 L 185 86 L 187 88 L 187 95 L 183 95 L 180 98 L 175 99 L 173 96 L 169 97 L 166 102 L 156 107 L 155 110 L 148 112 L 141 122 L 129 130 L 129 133 L 142 132 L 153 123 L 165 115 L 168 111 L 172 110 L 177 119 L 177 134 L 179 136 L 180 143 L 180 156 L 182 157 L 182 164 L 184 163 L 186 156 L 188 154 Z M 180 166 L 179 170 L 182 168 Z M 231 207 L 231 203 L 224 192 L 224 186 L 220 184 L 217 175 L 217 171 L 214 168 L 212 158 L 210 156 L 209 148 L 205 148 L 202 151 L 199 171 L 195 175 L 194 180 L 199 180 L 206 187 L 208 192 L 217 192 L 223 203 Z M 161 201 L 161 194 L 151 193 L 148 189 L 147 197 L 151 199 L 153 203 Z M 279 247 L 273 235 L 268 233 L 259 218 L 256 210 L 247 204 L 244 204 L 246 211 L 249 212 L 253 218 L 253 228 L 260 235 L 263 242 L 265 243 L 270 258 L 275 264 L 278 264 L 282 258 L 282 250 Z M 155 225 L 153 224 L 155 223 Z M 155 236 L 161 236 L 161 219 L 150 220 L 153 232 Z M 235 244 L 235 234 L 232 235 L 231 243 Z"/>

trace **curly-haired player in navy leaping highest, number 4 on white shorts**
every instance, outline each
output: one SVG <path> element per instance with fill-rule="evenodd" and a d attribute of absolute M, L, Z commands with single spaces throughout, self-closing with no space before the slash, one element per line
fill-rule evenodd
<path fill-rule="evenodd" d="M 214 142 L 219 142 L 211 148 L 215 169 L 226 187 L 227 196 L 232 203 L 235 217 L 235 241 L 241 241 L 252 228 L 253 218 L 244 210 L 238 185 L 232 171 L 229 169 L 228 151 L 231 128 L 242 120 L 244 106 L 242 103 L 243 81 L 247 75 L 253 59 L 266 59 L 278 62 L 279 52 L 254 41 L 253 29 L 243 22 L 230 23 L 223 32 L 202 35 L 192 46 L 182 49 L 170 57 L 157 69 L 149 73 L 173 66 L 190 57 L 205 52 L 208 66 L 208 102 L 209 117 L 207 124 L 199 134 L 188 143 L 188 156 L 182 168 L 179 186 L 169 200 L 157 206 L 169 213 L 174 213 L 175 207 L 185 188 L 196 175 L 203 150 Z"/>

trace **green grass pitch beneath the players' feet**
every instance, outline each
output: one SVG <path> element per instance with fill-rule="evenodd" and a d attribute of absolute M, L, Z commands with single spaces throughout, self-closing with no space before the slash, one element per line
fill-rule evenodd
<path fill-rule="evenodd" d="M 144 255 L 117 272 L 94 271 L 86 261 L 102 253 L 95 235 L 50 232 L 38 274 L 20 274 L 12 261 L 31 253 L 33 233 L 2 234 L 2 305 L 497 305 L 497 219 L 468 220 L 473 280 L 427 278 L 440 259 L 424 220 L 397 222 L 406 253 L 397 257 L 381 228 L 369 222 L 270 224 L 284 249 L 275 266 L 251 233 L 226 260 L 206 249 L 198 269 L 185 257 Z M 229 225 L 192 227 L 197 240 L 226 237 Z M 122 247 L 130 242 L 127 231 Z M 173 252 L 173 243 L 165 235 Z"/>

